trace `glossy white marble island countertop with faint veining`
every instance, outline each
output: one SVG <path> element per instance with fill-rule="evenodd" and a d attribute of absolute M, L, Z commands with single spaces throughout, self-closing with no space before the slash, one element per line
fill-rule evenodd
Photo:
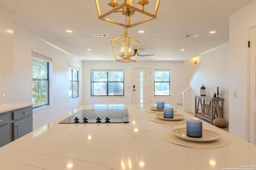
<path fill-rule="evenodd" d="M 3 170 L 223 170 L 256 169 L 256 145 L 209 123 L 230 140 L 214 149 L 184 147 L 166 141 L 164 133 L 186 127 L 150 121 L 149 105 L 100 106 L 128 108 L 130 123 L 59 124 L 73 112 L 0 148 Z M 85 105 L 79 109 L 98 109 Z M 185 119 L 197 119 L 176 109 Z M 207 145 L 207 144 L 206 144 Z"/>

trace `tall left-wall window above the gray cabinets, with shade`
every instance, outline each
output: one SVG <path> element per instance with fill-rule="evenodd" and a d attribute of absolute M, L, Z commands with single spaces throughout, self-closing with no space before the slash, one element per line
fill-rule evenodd
<path fill-rule="evenodd" d="M 32 104 L 35 108 L 49 105 L 49 69 L 52 59 L 34 52 L 32 56 Z"/>

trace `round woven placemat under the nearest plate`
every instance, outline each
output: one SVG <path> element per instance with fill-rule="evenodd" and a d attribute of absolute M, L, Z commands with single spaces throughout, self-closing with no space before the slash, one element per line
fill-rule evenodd
<path fill-rule="evenodd" d="M 195 141 L 188 141 L 185 139 L 181 139 L 176 137 L 172 131 L 167 131 L 163 135 L 164 139 L 170 143 L 174 143 L 176 145 L 181 145 L 190 148 L 200 148 L 200 149 L 213 149 L 213 148 L 220 148 L 225 147 L 230 144 L 230 140 L 227 137 L 220 136 L 219 139 L 210 142 L 195 142 Z"/>

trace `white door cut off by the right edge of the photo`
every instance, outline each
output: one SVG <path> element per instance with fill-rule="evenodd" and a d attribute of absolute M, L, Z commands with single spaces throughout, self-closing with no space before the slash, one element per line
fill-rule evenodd
<path fill-rule="evenodd" d="M 256 27 L 250 29 L 249 142 L 256 145 Z"/>

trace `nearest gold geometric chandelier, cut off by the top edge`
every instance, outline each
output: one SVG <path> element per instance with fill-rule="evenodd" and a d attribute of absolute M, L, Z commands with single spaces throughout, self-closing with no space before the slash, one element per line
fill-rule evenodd
<path fill-rule="evenodd" d="M 101 14 L 98 0 L 95 0 L 95 4 L 96 4 L 97 11 L 98 11 L 99 19 L 104 20 L 104 21 L 108 21 L 108 22 L 111 22 L 111 23 L 115 23 L 115 24 L 121 25 L 123 27 L 130 28 L 130 27 L 134 27 L 135 25 L 139 25 L 141 23 L 144 23 L 146 21 L 150 21 L 150 20 L 155 19 L 157 11 L 158 11 L 159 4 L 160 4 L 160 0 L 157 0 L 156 6 L 155 6 L 155 9 L 154 9 L 154 14 L 150 14 L 150 13 L 148 13 L 144 10 L 144 6 L 149 4 L 148 0 L 139 0 L 137 2 L 138 6 L 141 6 L 141 9 L 136 8 L 135 6 L 133 6 L 132 0 L 120 0 L 120 1 L 123 1 L 123 3 L 119 4 L 119 3 L 116 2 L 116 0 L 111 0 L 111 2 L 108 3 L 108 6 L 112 7 L 112 10 L 106 12 L 105 14 Z M 105 9 L 106 7 L 104 6 L 102 8 Z M 134 16 L 134 19 L 139 18 L 139 20 L 136 20 L 134 23 L 132 23 L 131 22 L 131 16 L 136 14 L 136 12 L 138 12 L 137 14 L 142 14 L 146 18 Z M 121 21 L 118 21 L 114 16 L 114 14 L 116 14 L 116 13 L 121 13 L 124 16 L 128 17 L 128 23 L 122 23 Z M 111 16 L 113 16 L 113 18 Z"/>

